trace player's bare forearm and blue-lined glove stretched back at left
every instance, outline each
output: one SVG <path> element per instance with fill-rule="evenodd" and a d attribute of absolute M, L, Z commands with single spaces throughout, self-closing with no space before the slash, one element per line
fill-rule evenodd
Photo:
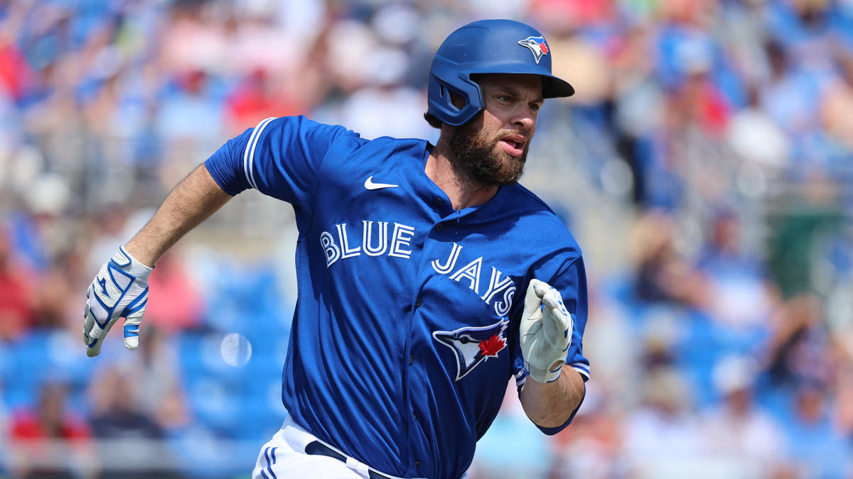
<path fill-rule="evenodd" d="M 148 274 L 154 263 L 229 199 L 201 164 L 169 193 L 148 224 L 119 247 L 86 291 L 83 340 L 87 355 L 101 352 L 103 339 L 119 318 L 125 318 L 125 347 L 139 346 L 139 324 L 148 304 Z"/>

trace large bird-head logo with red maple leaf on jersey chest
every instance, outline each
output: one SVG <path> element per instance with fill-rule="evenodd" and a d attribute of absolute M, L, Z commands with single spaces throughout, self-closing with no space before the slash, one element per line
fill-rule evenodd
<path fill-rule="evenodd" d="M 508 320 L 500 320 L 491 326 L 461 327 L 456 331 L 432 333 L 439 343 L 456 354 L 456 381 L 489 358 L 496 358 L 507 347 Z"/>

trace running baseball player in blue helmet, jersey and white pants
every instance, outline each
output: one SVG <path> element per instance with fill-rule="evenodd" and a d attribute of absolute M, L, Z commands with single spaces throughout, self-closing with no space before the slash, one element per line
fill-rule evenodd
<path fill-rule="evenodd" d="M 565 225 L 517 181 L 544 99 L 573 93 L 541 33 L 480 20 L 432 61 L 434 146 L 264 119 L 183 179 L 97 274 L 88 354 L 121 317 L 136 349 L 154 263 L 252 188 L 293 205 L 299 228 L 289 416 L 253 477 L 463 477 L 511 377 L 555 434 L 589 378 L 586 277 Z"/>

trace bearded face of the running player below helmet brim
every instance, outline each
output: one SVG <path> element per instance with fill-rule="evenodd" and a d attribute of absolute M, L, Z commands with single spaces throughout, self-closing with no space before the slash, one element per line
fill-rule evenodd
<path fill-rule="evenodd" d="M 485 109 L 453 132 L 453 163 L 472 180 L 505 185 L 524 172 L 542 107 L 542 80 L 534 75 L 488 75 L 478 81 Z"/>

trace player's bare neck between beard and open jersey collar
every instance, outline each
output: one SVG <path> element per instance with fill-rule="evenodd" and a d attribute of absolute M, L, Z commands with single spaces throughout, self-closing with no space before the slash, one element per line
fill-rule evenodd
<path fill-rule="evenodd" d="M 482 205 L 494 198 L 497 193 L 497 185 L 474 182 L 457 171 L 447 159 L 447 153 L 441 141 L 432 149 L 424 171 L 432 182 L 447 194 L 454 210 Z"/>

